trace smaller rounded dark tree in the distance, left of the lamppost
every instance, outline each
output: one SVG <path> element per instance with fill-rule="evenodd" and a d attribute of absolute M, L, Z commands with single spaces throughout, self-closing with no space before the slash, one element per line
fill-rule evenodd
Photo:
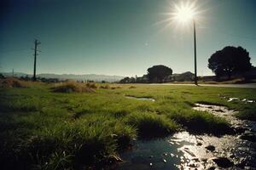
<path fill-rule="evenodd" d="M 165 65 L 154 65 L 148 68 L 149 82 L 163 82 L 164 79 L 172 75 L 172 69 Z"/>

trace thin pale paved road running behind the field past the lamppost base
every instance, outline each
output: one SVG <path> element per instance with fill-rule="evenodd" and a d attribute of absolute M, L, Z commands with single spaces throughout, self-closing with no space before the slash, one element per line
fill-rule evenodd
<path fill-rule="evenodd" d="M 150 84 L 150 85 L 163 85 L 163 86 L 195 86 L 195 84 L 172 84 L 172 83 L 162 83 L 162 84 Z M 256 88 L 256 83 L 247 84 L 199 84 L 199 86 L 207 87 L 223 87 L 223 88 Z"/>

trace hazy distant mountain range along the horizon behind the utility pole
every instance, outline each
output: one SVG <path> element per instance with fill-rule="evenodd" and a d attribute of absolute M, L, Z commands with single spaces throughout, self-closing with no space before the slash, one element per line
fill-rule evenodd
<path fill-rule="evenodd" d="M 2 72 L 4 77 L 12 77 L 13 73 L 12 72 Z M 15 72 L 15 77 L 32 77 L 30 74 L 26 74 L 23 72 Z M 84 75 L 75 75 L 75 74 L 38 74 L 37 77 L 44 77 L 44 78 L 57 78 L 59 80 L 67 80 L 67 79 L 72 79 L 72 80 L 79 80 L 79 81 L 95 81 L 95 82 L 119 82 L 124 77 L 120 76 L 108 76 L 108 75 L 96 75 L 96 74 L 84 74 Z"/>

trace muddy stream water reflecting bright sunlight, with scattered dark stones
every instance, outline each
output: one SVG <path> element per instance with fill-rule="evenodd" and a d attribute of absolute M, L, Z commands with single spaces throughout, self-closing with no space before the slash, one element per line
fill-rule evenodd
<path fill-rule="evenodd" d="M 237 120 L 232 116 L 235 111 L 223 106 L 198 104 L 194 109 L 222 116 L 241 132 L 221 137 L 182 132 L 165 139 L 135 140 L 132 150 L 120 154 L 124 161 L 119 169 L 256 169 L 256 144 L 241 138 L 255 135 L 255 122 Z"/>

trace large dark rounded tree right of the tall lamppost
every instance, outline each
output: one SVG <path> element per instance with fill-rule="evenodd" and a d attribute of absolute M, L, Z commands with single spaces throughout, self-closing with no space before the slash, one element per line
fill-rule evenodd
<path fill-rule="evenodd" d="M 252 68 L 249 53 L 245 48 L 227 46 L 212 54 L 208 59 L 208 68 L 217 77 L 242 74 Z"/>

